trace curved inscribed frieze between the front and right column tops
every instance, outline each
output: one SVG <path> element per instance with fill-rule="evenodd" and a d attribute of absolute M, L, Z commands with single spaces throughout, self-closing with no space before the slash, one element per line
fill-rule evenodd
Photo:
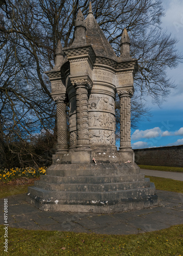
<path fill-rule="evenodd" d="M 115 84 L 115 74 L 108 70 L 93 69 L 93 80 Z"/>

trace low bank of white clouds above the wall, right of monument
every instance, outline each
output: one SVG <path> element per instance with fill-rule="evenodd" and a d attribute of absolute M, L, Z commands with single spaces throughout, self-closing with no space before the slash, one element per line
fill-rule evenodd
<path fill-rule="evenodd" d="M 160 127 L 154 127 L 152 129 L 148 130 L 136 130 L 132 134 L 132 140 L 139 140 L 141 138 L 156 138 L 156 137 L 166 137 L 166 136 L 183 136 L 183 127 L 181 127 L 178 131 L 175 132 L 169 132 L 169 131 L 161 131 Z"/>

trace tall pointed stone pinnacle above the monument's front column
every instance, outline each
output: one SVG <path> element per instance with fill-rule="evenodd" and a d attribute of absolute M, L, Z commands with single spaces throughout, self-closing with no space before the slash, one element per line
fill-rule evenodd
<path fill-rule="evenodd" d="M 77 13 L 74 28 L 74 42 L 73 46 L 80 46 L 86 44 L 86 24 L 81 9 Z"/>

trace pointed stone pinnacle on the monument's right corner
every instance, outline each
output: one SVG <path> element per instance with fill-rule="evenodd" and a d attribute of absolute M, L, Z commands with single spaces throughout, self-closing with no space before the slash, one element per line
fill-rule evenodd
<path fill-rule="evenodd" d="M 121 36 L 120 55 L 121 58 L 131 58 L 129 54 L 130 41 L 126 28 L 124 28 Z"/>

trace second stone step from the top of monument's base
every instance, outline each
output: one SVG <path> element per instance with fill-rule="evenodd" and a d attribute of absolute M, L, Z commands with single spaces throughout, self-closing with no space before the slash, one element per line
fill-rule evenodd
<path fill-rule="evenodd" d="M 144 174 L 131 174 L 120 176 L 76 176 L 76 177 L 62 177 L 53 175 L 41 175 L 41 181 L 50 183 L 115 183 L 115 182 L 127 182 L 127 181 L 142 181 L 144 180 Z"/>

